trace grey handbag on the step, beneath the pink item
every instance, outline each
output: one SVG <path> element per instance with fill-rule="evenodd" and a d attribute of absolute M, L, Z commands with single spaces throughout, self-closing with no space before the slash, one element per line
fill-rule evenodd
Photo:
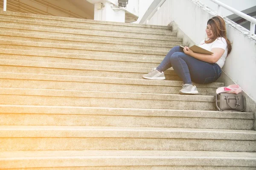
<path fill-rule="evenodd" d="M 244 111 L 244 96 L 233 93 L 221 93 L 216 95 L 216 108 L 218 111 Z"/>

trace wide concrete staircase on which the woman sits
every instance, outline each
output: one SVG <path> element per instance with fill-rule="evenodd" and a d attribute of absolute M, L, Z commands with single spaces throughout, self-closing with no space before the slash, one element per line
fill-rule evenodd
<path fill-rule="evenodd" d="M 255 170 L 253 113 L 224 83 L 142 79 L 182 44 L 167 26 L 0 12 L 0 169 Z"/>

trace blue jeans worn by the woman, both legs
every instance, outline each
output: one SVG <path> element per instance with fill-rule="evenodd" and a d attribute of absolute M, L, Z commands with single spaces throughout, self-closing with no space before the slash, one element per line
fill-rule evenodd
<path fill-rule="evenodd" d="M 186 55 L 180 46 L 172 48 L 157 70 L 162 72 L 172 67 L 184 84 L 199 84 L 215 82 L 221 76 L 221 68 L 218 64 L 204 62 Z"/>

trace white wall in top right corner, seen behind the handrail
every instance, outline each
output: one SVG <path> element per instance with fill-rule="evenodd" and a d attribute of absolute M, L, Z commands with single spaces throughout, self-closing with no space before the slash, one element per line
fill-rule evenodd
<path fill-rule="evenodd" d="M 212 1 L 210 1 L 210 0 L 199 0 L 199 1 L 204 3 L 209 8 L 212 8 L 213 10 L 217 11 L 218 5 L 216 5 Z M 243 11 L 247 8 L 251 8 L 253 6 L 256 6 L 256 0 L 219 0 L 219 1 L 228 5 L 228 6 L 231 6 L 232 8 L 235 8 L 239 11 Z M 233 13 L 228 11 L 225 8 L 221 8 L 221 14 L 224 15 L 224 16 L 229 16 Z"/>

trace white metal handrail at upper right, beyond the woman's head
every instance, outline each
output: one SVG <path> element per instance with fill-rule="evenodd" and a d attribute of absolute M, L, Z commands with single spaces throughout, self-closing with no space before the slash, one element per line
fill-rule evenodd
<path fill-rule="evenodd" d="M 218 0 L 210 0 L 210 1 L 212 1 L 213 3 L 218 4 L 218 15 L 221 15 L 221 7 L 223 7 L 223 8 L 226 8 L 227 10 L 233 12 L 234 14 L 237 14 L 239 17 L 242 17 L 242 18 L 250 21 L 250 34 L 254 35 L 254 33 L 255 33 L 255 24 L 256 24 L 256 19 L 255 18 L 250 17 L 249 15 L 244 14 L 243 12 L 238 11 L 238 10 L 236 10 L 236 9 L 230 7 L 230 6 L 227 6 L 226 4 L 221 3 Z"/>

